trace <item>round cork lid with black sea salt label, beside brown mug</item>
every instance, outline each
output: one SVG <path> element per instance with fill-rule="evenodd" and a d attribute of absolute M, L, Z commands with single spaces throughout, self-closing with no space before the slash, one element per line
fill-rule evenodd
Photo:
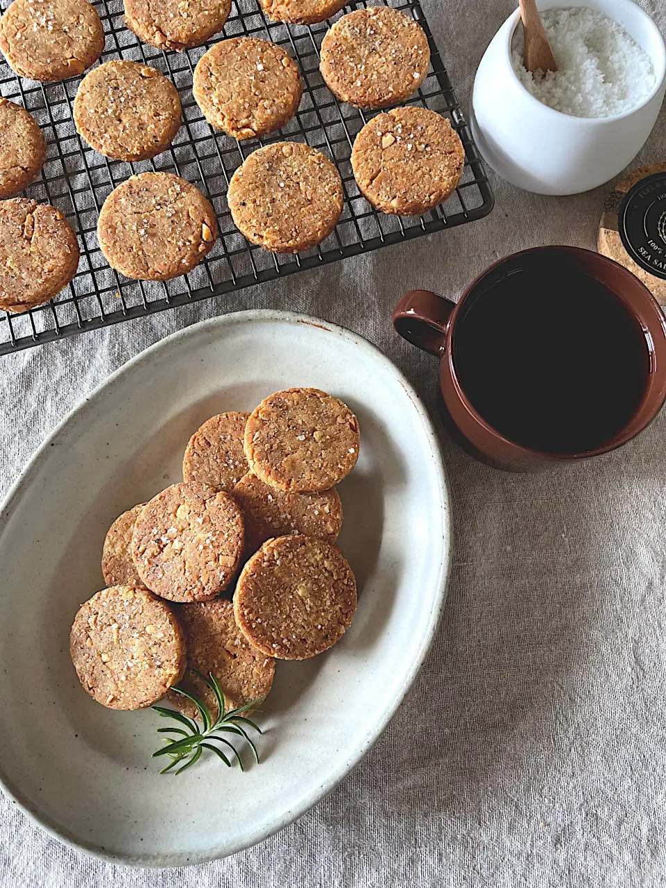
<path fill-rule="evenodd" d="M 597 248 L 666 305 L 666 163 L 638 167 L 608 194 Z"/>

